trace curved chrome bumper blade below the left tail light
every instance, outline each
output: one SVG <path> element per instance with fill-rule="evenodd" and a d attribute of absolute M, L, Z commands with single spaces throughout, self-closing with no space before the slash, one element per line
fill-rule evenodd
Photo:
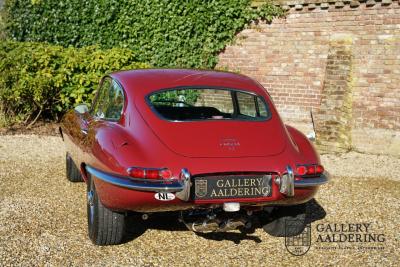
<path fill-rule="evenodd" d="M 171 181 L 171 180 L 148 180 L 145 179 L 136 179 L 121 176 L 118 174 L 109 174 L 98 169 L 95 169 L 91 166 L 86 165 L 86 170 L 91 175 L 100 179 L 106 183 L 116 185 L 119 187 L 133 189 L 138 191 L 150 191 L 150 192 L 179 192 L 186 189 L 186 181 Z M 189 185 L 190 188 L 190 185 Z"/>

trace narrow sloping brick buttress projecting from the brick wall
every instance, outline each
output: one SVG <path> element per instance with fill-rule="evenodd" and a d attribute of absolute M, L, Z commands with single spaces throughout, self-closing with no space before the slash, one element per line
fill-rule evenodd
<path fill-rule="evenodd" d="M 315 116 L 317 145 L 324 152 L 351 149 L 353 42 L 332 40 L 325 67 L 321 105 Z"/>

